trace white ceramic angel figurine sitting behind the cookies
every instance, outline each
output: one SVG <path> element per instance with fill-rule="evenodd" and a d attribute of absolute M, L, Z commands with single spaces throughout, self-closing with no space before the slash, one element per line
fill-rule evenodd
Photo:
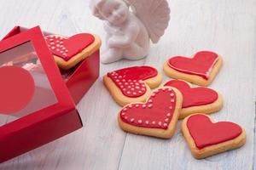
<path fill-rule="evenodd" d="M 170 20 L 166 0 L 91 0 L 90 6 L 96 17 L 106 20 L 104 64 L 143 59 L 148 55 L 149 40 L 158 42 Z"/>

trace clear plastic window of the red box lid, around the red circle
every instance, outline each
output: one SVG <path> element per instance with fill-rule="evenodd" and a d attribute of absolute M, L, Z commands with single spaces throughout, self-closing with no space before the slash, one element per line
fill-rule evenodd
<path fill-rule="evenodd" d="M 0 68 L 6 67 L 19 67 L 21 69 L 24 69 L 25 72 L 29 73 L 34 82 L 34 90 L 32 92 L 31 99 L 29 99 L 26 104 L 22 105 L 20 111 L 4 113 L 3 110 L 1 112 L 0 106 L 0 120 L 3 120 L 3 117 L 11 116 L 9 117 L 8 122 L 12 122 L 15 119 L 18 119 L 20 116 L 32 114 L 35 111 L 42 110 L 50 105 L 55 105 L 58 102 L 55 97 L 55 93 L 50 86 L 49 79 L 45 74 L 44 68 L 40 64 L 38 55 L 33 48 L 32 42 L 23 43 L 15 48 L 10 48 L 9 50 L 0 53 Z M 13 79 L 15 77 L 8 78 Z M 1 82 L 3 81 L 4 80 L 2 79 Z M 13 90 L 14 88 L 15 90 L 19 90 L 19 83 L 15 85 L 10 85 L 9 89 L 2 90 L 7 90 L 9 91 L 9 94 L 14 95 L 11 92 L 12 89 L 10 88 L 13 88 Z M 24 90 L 24 87 L 20 88 L 20 90 Z M 29 91 L 30 89 L 26 90 Z M 6 95 L 6 93 L 4 94 Z M 9 96 L 7 95 L 6 97 L 8 98 Z M 1 98 L 4 99 L 3 96 Z M 15 101 L 15 99 L 10 100 L 9 102 L 13 102 L 13 104 L 15 105 L 15 102 L 19 102 Z M 3 125 L 5 123 L 7 122 L 0 122 L 0 125 Z"/>

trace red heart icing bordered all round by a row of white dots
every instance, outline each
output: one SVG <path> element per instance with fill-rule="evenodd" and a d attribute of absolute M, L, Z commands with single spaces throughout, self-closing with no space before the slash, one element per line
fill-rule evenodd
<path fill-rule="evenodd" d="M 120 116 L 124 122 L 131 123 L 133 126 L 167 129 L 172 122 L 175 111 L 172 108 L 175 108 L 176 100 L 173 90 L 160 88 L 153 92 L 146 103 L 127 105 L 121 110 Z M 125 116 L 127 118 L 124 118 Z"/>

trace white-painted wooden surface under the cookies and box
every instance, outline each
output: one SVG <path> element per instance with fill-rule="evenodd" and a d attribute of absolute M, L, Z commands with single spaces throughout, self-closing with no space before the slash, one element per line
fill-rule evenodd
<path fill-rule="evenodd" d="M 0 169 L 253 169 L 256 0 L 170 0 L 170 5 L 171 24 L 147 59 L 102 65 L 101 78 L 78 105 L 82 129 L 4 162 Z M 90 15 L 88 0 L 0 0 L 0 37 L 16 25 L 104 37 L 102 22 Z M 116 121 L 119 106 L 104 88 L 102 75 L 130 65 L 153 65 L 161 71 L 169 56 L 189 56 L 201 49 L 224 57 L 224 67 L 211 85 L 224 95 L 224 109 L 212 117 L 245 127 L 247 144 L 197 161 L 179 127 L 169 140 L 122 132 Z M 0 124 L 9 121 L 1 116 Z"/>

